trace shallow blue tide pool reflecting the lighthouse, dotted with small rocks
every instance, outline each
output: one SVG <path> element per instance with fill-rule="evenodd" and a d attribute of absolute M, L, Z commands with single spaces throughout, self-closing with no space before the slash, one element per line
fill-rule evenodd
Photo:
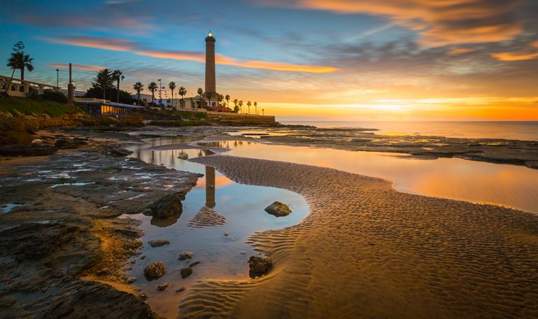
<path fill-rule="evenodd" d="M 151 216 L 131 215 L 129 217 L 142 220 L 144 230 L 144 260 L 138 260 L 133 265 L 130 276 L 138 278 L 135 285 L 149 296 L 148 302 L 153 310 L 161 316 L 175 318 L 179 300 L 188 293 L 190 285 L 200 278 L 221 278 L 247 280 L 247 260 L 258 253 L 245 243 L 249 235 L 266 229 L 280 229 L 296 225 L 308 213 L 308 205 L 303 197 L 274 187 L 242 185 L 234 183 L 226 176 L 211 167 L 187 162 L 181 158 L 193 158 L 210 155 L 211 152 L 199 149 L 149 150 L 151 146 L 172 143 L 182 143 L 185 139 L 152 139 L 144 145 L 131 146 L 132 157 L 138 157 L 144 162 L 204 174 L 198 183 L 188 192 L 183 201 L 183 213 L 172 218 L 158 219 Z M 241 142 L 242 143 L 242 142 Z M 236 143 L 237 145 L 237 143 Z M 276 218 L 265 213 L 264 208 L 273 201 L 289 204 L 293 213 Z M 200 208 L 212 208 L 216 213 L 226 218 L 225 225 L 212 227 L 190 227 L 188 224 L 200 211 Z M 225 236 L 225 233 L 229 233 Z M 170 245 L 151 248 L 147 241 L 167 239 Z M 179 261 L 183 251 L 194 253 L 192 260 Z M 242 254 L 244 253 L 244 254 Z M 157 281 L 148 282 L 143 276 L 144 267 L 151 262 L 164 262 L 167 267 L 165 276 Z M 179 271 L 191 262 L 200 261 L 193 267 L 193 274 L 182 279 Z M 169 282 L 170 287 L 158 292 L 157 286 Z M 186 286 L 186 292 L 176 293 L 175 290 Z"/>

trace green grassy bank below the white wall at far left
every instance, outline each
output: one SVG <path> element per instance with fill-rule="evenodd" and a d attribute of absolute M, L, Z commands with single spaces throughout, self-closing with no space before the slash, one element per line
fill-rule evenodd
<path fill-rule="evenodd" d="M 0 98 L 0 112 L 18 115 L 48 114 L 50 117 L 58 117 L 64 114 L 78 113 L 81 109 L 69 104 L 60 104 L 54 101 L 25 99 L 22 97 Z"/>

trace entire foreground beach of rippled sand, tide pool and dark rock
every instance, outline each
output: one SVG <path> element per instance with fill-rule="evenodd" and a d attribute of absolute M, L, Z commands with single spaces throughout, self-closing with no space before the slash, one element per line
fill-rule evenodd
<path fill-rule="evenodd" d="M 89 316 L 76 305 L 90 301 L 91 313 L 102 311 L 107 318 L 128 311 L 139 314 L 137 318 L 538 316 L 535 213 L 399 192 L 389 180 L 328 167 L 232 155 L 225 143 L 273 143 L 227 134 L 244 130 L 66 129 L 53 135 L 78 136 L 88 139 L 88 145 L 37 162 L 4 160 L 1 198 L 18 198 L 8 202 L 20 206 L 0 215 L 2 267 L 18 269 L 16 274 L 4 272 L 1 301 L 11 310 L 2 313 L 11 318 L 55 316 L 54 307 L 72 293 L 65 287 L 69 278 L 76 285 L 67 287 L 89 288 L 68 302 L 82 312 L 64 313 L 65 318 Z M 151 139 L 160 142 L 149 143 Z M 123 148 L 124 155 L 112 155 L 111 150 Z M 287 151 L 294 148 L 300 150 L 294 146 Z M 181 154 L 188 160 L 176 158 Z M 216 172 L 212 197 L 207 197 L 208 167 Z M 38 182 L 39 187 L 30 187 Z M 203 188 L 198 190 L 197 184 Z M 183 215 L 166 220 L 147 216 L 165 195 L 179 192 L 186 193 Z M 279 219 L 254 204 L 223 201 L 230 196 L 237 196 L 233 201 L 259 197 L 261 204 L 293 201 L 291 216 L 299 215 L 288 224 L 271 224 Z M 301 207 L 296 197 L 308 204 L 305 215 L 296 210 Z M 202 205 L 200 211 L 196 205 Z M 241 224 L 246 219 L 238 213 L 248 213 L 256 223 L 260 209 L 269 223 L 259 228 Z M 77 240 L 60 236 L 57 248 L 30 257 L 36 254 L 32 249 L 38 239 L 24 236 L 28 229 L 41 229 L 39 240 L 47 242 L 66 227 L 80 234 Z M 170 244 L 152 248 L 148 239 Z M 19 242 L 17 249 L 14 242 Z M 201 264 L 183 279 L 179 270 L 185 262 L 177 255 L 187 248 L 195 257 L 186 264 Z M 214 253 L 204 253 L 212 249 Z M 247 259 L 258 254 L 270 257 L 274 267 L 249 278 Z M 51 256 L 61 262 L 51 263 Z M 15 266 L 9 260 L 22 263 Z M 165 261 L 167 274 L 146 281 L 144 267 L 160 261 Z M 44 279 L 29 285 L 28 276 Z M 164 283 L 170 288 L 156 290 Z M 84 295 L 97 289 L 104 297 Z M 34 295 L 25 297 L 29 294 Z M 118 306 L 112 311 L 110 304 Z"/>

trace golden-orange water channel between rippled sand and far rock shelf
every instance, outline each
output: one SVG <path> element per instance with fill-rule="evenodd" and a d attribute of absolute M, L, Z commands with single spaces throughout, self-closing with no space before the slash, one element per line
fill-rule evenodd
<path fill-rule="evenodd" d="M 212 146 L 226 147 L 223 143 Z M 325 148 L 233 144 L 229 155 L 331 167 L 392 180 L 402 192 L 495 203 L 538 212 L 538 170 L 458 158 L 419 160 L 406 155 Z"/>

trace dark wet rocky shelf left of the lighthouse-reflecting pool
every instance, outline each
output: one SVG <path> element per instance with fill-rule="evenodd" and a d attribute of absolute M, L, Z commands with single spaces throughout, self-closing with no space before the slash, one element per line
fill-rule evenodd
<path fill-rule="evenodd" d="M 125 159 L 117 141 L 44 136 L 85 143 L 0 162 L 0 317 L 157 318 L 126 285 L 125 262 L 142 246 L 138 221 L 117 217 L 156 214 L 199 175 Z"/>

